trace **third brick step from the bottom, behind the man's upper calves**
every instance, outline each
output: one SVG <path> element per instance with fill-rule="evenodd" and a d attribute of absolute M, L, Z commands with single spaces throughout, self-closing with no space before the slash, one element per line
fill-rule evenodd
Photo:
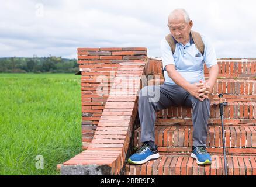
<path fill-rule="evenodd" d="M 228 106 L 224 106 L 224 118 L 225 119 L 240 119 L 248 120 L 246 123 L 255 123 L 256 119 L 256 102 L 240 102 L 229 101 Z M 191 118 L 192 108 L 184 106 L 171 106 L 168 109 L 160 110 L 157 112 L 157 122 L 171 122 L 170 118 Z M 220 109 L 219 101 L 210 102 L 210 119 L 219 119 Z M 209 122 L 210 123 L 210 122 Z M 231 122 L 233 123 L 233 122 Z"/>

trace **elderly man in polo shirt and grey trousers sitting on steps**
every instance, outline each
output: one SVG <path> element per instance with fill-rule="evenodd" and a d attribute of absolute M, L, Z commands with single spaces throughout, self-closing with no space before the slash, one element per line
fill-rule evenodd
<path fill-rule="evenodd" d="M 201 165 L 212 162 L 206 150 L 207 122 L 210 117 L 208 96 L 212 93 L 217 79 L 218 65 L 212 44 L 202 34 L 198 33 L 199 37 L 193 37 L 195 32 L 191 30 L 192 26 L 193 22 L 184 9 L 175 9 L 168 17 L 170 34 L 161 41 L 165 82 L 160 86 L 153 86 L 158 91 L 158 99 L 150 97 L 150 86 L 140 91 L 139 118 L 143 146 L 129 158 L 128 162 L 131 164 L 144 164 L 148 160 L 159 158 L 155 145 L 156 112 L 170 106 L 193 108 L 191 157 Z M 202 41 L 201 46 L 199 40 Z M 209 70 L 209 79 L 206 82 L 204 63 Z"/>

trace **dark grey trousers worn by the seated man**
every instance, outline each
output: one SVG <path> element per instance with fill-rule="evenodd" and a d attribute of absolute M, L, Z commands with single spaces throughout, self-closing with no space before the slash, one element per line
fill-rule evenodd
<path fill-rule="evenodd" d="M 141 142 L 155 142 L 156 112 L 170 106 L 187 106 L 193 108 L 193 146 L 205 146 L 207 125 L 210 117 L 210 101 L 203 102 L 190 95 L 178 85 L 162 84 L 146 86 L 139 95 L 139 118 L 141 126 Z"/>

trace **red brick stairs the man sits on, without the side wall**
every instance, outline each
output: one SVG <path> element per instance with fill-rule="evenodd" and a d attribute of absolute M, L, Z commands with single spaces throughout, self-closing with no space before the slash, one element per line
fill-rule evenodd
<path fill-rule="evenodd" d="M 143 165 L 127 164 L 126 175 L 224 175 L 219 93 L 223 93 L 224 100 L 229 103 L 224 106 L 228 174 L 256 175 L 254 70 L 255 61 L 219 62 L 219 75 L 222 78 L 217 80 L 210 96 L 206 141 L 213 159 L 211 165 L 200 166 L 190 157 L 193 144 L 192 109 L 170 107 L 157 113 L 155 123 L 155 143 L 159 146 L 160 158 Z M 141 146 L 140 128 L 135 131 L 134 145 Z"/>

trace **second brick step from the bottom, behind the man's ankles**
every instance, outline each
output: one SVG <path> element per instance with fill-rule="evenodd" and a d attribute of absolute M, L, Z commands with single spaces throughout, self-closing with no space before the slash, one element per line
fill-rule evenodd
<path fill-rule="evenodd" d="M 256 154 L 256 126 L 224 126 L 227 153 Z M 140 127 L 134 133 L 134 146 L 141 146 Z M 193 146 L 193 126 L 173 124 L 155 126 L 155 144 L 160 152 L 190 152 Z M 222 127 L 209 125 L 206 146 L 209 153 L 222 153 Z M 219 148 L 219 149 L 217 149 Z"/>

